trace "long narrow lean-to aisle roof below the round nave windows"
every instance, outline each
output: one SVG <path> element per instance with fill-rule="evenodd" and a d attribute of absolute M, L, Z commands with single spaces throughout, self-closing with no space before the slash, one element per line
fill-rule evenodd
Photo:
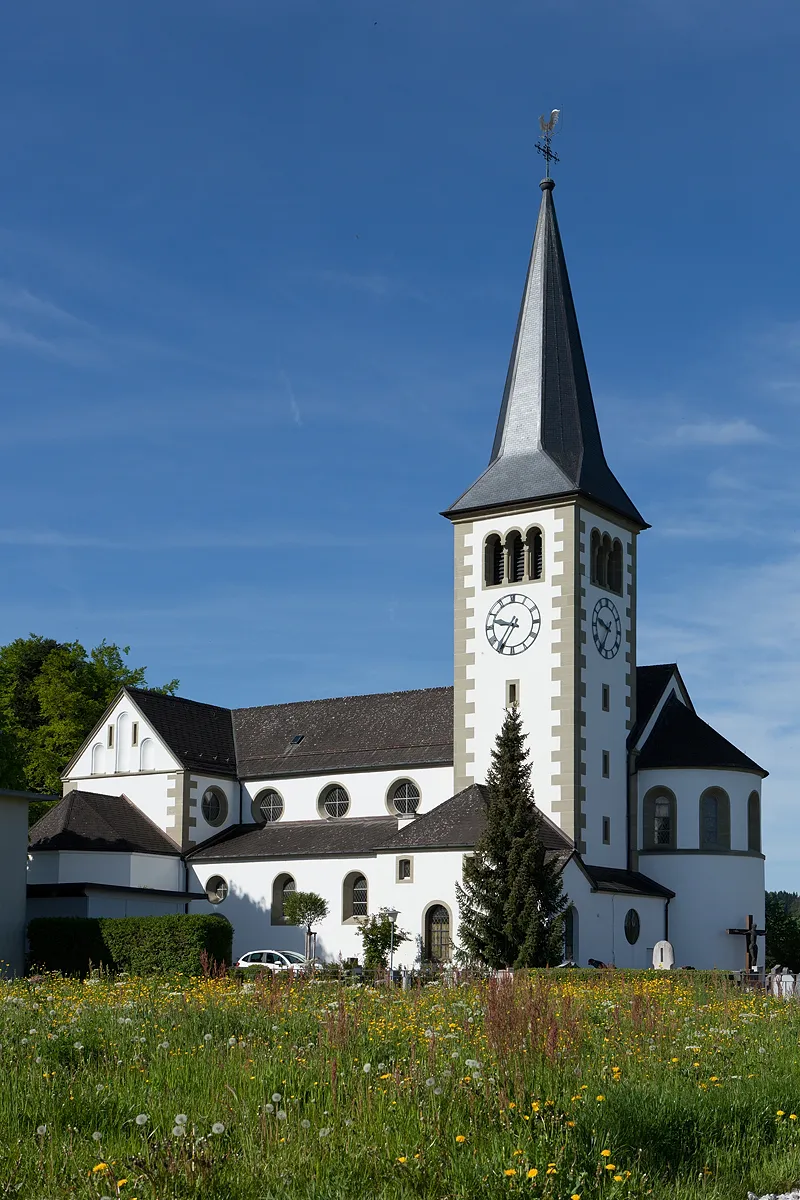
<path fill-rule="evenodd" d="M 276 821 L 240 824 L 205 842 L 187 857 L 227 862 L 234 858 L 325 858 L 372 854 L 397 828 L 396 817 L 344 817 L 341 821 Z"/>

